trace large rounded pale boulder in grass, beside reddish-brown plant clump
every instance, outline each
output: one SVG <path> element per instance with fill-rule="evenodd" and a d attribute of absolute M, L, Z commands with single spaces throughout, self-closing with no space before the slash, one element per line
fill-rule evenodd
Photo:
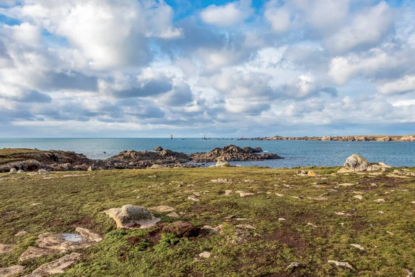
<path fill-rule="evenodd" d="M 151 215 L 147 208 L 133 205 L 124 205 L 121 208 L 110 208 L 104 211 L 117 224 L 117 228 L 130 229 L 140 226 L 140 229 L 149 228 L 160 221 L 159 218 Z"/>

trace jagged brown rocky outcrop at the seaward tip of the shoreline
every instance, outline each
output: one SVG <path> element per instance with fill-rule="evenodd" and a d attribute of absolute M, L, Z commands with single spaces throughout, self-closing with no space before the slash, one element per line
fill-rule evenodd
<path fill-rule="evenodd" d="M 277 154 L 258 153 L 261 148 L 239 148 L 236 145 L 228 145 L 223 148 L 214 148 L 208 153 L 190 154 L 190 159 L 195 163 L 205 163 L 223 159 L 224 161 L 260 161 L 267 159 L 282 159 Z"/>

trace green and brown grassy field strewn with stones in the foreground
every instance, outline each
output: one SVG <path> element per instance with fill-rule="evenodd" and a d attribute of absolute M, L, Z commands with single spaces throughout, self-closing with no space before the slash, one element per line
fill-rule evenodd
<path fill-rule="evenodd" d="M 405 277 L 405 269 L 415 271 L 414 177 L 313 170 L 323 177 L 299 177 L 296 170 L 269 168 L 3 174 L 0 243 L 16 247 L 0 254 L 0 267 L 24 265 L 20 276 L 29 274 L 60 257 L 19 262 L 37 235 L 73 232 L 82 226 L 101 233 L 104 240 L 77 250 L 82 260 L 57 276 Z M 228 181 L 212 181 L 216 179 Z M 343 183 L 353 186 L 338 186 Z M 148 188 L 154 184 L 162 185 Z M 226 196 L 225 190 L 232 193 Z M 235 190 L 253 195 L 241 197 Z M 200 201 L 188 199 L 190 195 Z M 181 217 L 158 215 L 162 222 L 221 225 L 221 231 L 177 238 L 156 228 L 116 230 L 113 220 L 100 211 L 124 204 L 172 206 Z M 15 237 L 23 230 L 29 235 Z M 199 258 L 203 251 L 212 253 L 210 258 Z M 328 260 L 349 262 L 353 269 Z M 299 262 L 299 267 L 287 269 L 292 262 Z"/>

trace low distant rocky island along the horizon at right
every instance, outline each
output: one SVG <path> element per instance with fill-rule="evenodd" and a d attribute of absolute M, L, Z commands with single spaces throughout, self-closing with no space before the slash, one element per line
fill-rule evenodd
<path fill-rule="evenodd" d="M 266 136 L 238 141 L 415 141 L 415 135 L 405 136 Z"/>

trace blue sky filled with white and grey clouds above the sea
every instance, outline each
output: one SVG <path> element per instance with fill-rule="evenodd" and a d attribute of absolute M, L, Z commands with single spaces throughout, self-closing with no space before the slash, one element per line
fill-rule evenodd
<path fill-rule="evenodd" d="M 0 0 L 0 137 L 415 133 L 415 1 Z"/>

